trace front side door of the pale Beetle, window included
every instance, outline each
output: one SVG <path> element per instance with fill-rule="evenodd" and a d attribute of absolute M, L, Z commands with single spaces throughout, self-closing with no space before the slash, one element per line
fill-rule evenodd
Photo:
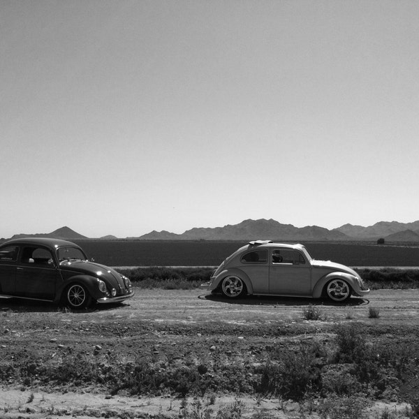
<path fill-rule="evenodd" d="M 277 295 L 311 295 L 311 266 L 300 251 L 272 249 L 269 290 Z"/>

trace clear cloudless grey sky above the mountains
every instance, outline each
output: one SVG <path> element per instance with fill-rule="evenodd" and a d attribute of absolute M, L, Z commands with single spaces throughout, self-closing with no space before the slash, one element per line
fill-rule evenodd
<path fill-rule="evenodd" d="M 416 0 L 0 0 L 0 237 L 416 221 L 418 22 Z"/>

